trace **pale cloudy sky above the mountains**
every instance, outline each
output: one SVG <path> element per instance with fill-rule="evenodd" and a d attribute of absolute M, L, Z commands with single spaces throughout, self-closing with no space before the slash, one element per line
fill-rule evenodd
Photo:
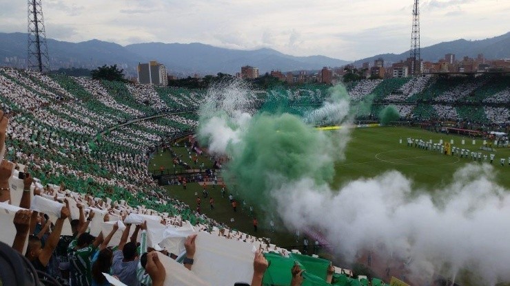
<path fill-rule="evenodd" d="M 26 31 L 26 1 L 0 0 L 0 32 Z M 345 60 L 409 50 L 413 0 L 43 0 L 46 36 L 121 45 L 200 42 Z M 510 30 L 508 0 L 420 1 L 421 45 Z"/>

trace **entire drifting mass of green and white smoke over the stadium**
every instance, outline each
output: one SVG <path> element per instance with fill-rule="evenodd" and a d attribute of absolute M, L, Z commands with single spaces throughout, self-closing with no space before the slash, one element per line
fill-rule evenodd
<path fill-rule="evenodd" d="M 250 113 L 254 105 L 246 102 L 254 101 L 245 86 L 216 86 L 201 109 L 198 137 L 230 157 L 223 174 L 244 199 L 277 212 L 289 228 L 320 230 L 347 259 L 372 250 L 411 261 L 407 267 L 421 278 L 468 269 L 489 285 L 510 281 L 510 192 L 493 183 L 491 166 L 461 168 L 453 183 L 433 190 L 436 197 L 413 190 L 396 171 L 329 186 L 349 132 L 319 132 L 312 124 L 349 124 L 346 94 L 331 89 L 323 107 L 300 118 Z"/>

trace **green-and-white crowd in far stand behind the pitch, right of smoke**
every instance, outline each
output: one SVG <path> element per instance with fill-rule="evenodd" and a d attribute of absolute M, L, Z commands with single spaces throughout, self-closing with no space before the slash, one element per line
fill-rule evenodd
<path fill-rule="evenodd" d="M 360 80 L 349 88 L 349 96 L 356 104 L 373 94 L 376 104 L 371 107 L 372 114 L 377 115 L 380 109 L 393 104 L 398 107 L 402 120 L 509 124 L 505 106 L 510 102 L 509 84 L 508 76 L 497 75 Z"/>

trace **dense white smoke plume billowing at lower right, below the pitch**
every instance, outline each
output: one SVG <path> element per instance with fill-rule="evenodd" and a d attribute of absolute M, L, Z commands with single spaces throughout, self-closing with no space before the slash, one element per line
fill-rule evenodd
<path fill-rule="evenodd" d="M 318 228 L 354 261 L 359 250 L 412 261 L 416 278 L 469 269 L 484 283 L 510 281 L 510 192 L 494 183 L 489 164 L 458 170 L 433 197 L 392 171 L 338 190 L 303 178 L 272 194 L 294 228 Z M 442 266 L 450 265 L 442 273 Z"/>

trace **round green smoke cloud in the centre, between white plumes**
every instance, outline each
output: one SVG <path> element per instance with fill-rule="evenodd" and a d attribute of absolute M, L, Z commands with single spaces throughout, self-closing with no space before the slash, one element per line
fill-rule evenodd
<path fill-rule="evenodd" d="M 323 184 L 334 175 L 327 133 L 289 113 L 254 115 L 239 143 L 229 149 L 225 179 L 236 185 L 243 198 L 259 206 L 269 207 L 269 190 L 288 181 L 309 177 Z"/>

